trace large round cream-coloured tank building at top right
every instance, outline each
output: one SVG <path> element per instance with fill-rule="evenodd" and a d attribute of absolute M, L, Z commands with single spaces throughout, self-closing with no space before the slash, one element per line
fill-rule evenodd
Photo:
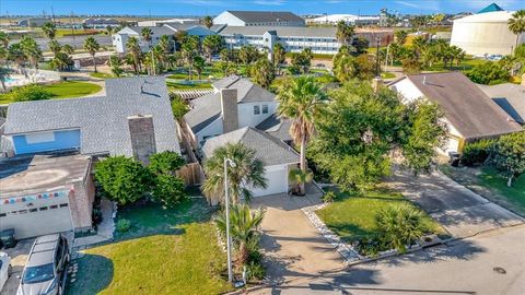
<path fill-rule="evenodd" d="M 451 45 L 468 55 L 510 55 L 517 44 L 525 42 L 525 34 L 514 35 L 509 30 L 510 11 L 482 12 L 454 21 Z"/>

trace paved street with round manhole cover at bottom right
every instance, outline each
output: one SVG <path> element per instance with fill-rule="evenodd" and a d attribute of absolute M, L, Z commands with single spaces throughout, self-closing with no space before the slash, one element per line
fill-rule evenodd
<path fill-rule="evenodd" d="M 524 245 L 525 225 L 500 228 L 448 246 L 304 276 L 250 294 L 523 295 Z M 495 272 L 498 267 L 505 273 Z"/>

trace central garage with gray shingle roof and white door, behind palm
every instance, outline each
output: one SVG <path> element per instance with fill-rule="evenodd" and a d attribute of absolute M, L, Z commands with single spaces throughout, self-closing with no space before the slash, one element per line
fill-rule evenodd
<path fill-rule="evenodd" d="M 256 157 L 265 165 L 266 189 L 252 189 L 254 197 L 287 193 L 290 189 L 289 170 L 299 165 L 298 153 L 265 131 L 253 127 L 244 127 L 206 141 L 202 153 L 205 161 L 213 155 L 213 151 L 228 143 L 243 143 L 256 151 Z"/>

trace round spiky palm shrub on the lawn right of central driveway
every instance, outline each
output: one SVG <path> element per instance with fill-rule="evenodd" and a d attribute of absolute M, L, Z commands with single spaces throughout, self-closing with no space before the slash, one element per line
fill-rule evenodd
<path fill-rule="evenodd" d="M 419 210 L 407 203 L 383 209 L 375 216 L 381 243 L 400 253 L 406 252 L 406 245 L 412 245 L 425 232 L 422 217 Z"/>

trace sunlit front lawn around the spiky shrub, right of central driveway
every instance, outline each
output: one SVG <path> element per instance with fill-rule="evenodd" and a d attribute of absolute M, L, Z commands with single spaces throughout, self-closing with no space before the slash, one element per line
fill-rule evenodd
<path fill-rule="evenodd" d="M 316 211 L 325 224 L 347 241 L 376 233 L 375 215 L 389 205 L 408 203 L 400 193 L 388 190 L 368 191 L 362 194 L 339 192 L 335 202 Z M 443 228 L 424 214 L 423 224 L 430 233 L 442 234 Z"/>

